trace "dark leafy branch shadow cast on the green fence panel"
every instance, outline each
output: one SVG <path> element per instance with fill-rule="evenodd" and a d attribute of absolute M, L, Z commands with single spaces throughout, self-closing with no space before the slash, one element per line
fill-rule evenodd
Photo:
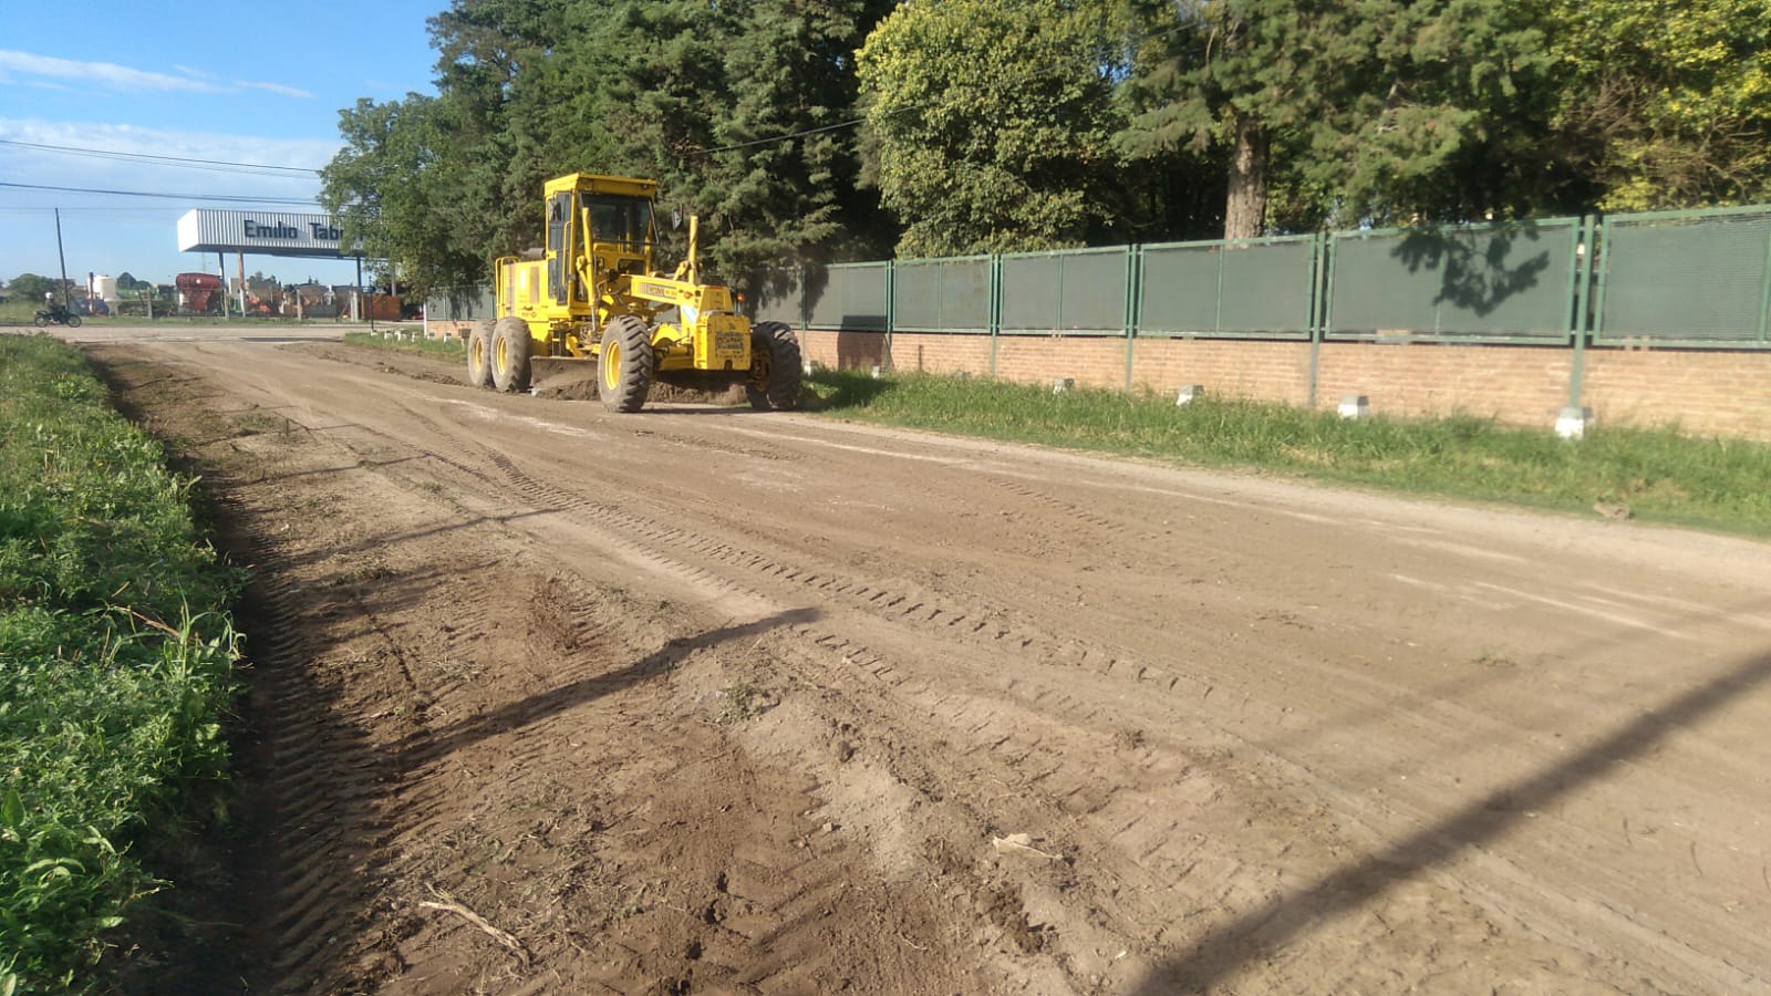
<path fill-rule="evenodd" d="M 1433 305 L 1450 305 L 1461 312 L 1489 315 L 1509 298 L 1530 291 L 1550 269 L 1550 250 L 1543 248 L 1511 261 L 1514 250 L 1530 252 L 1539 241 L 1534 223 L 1495 229 L 1410 229 L 1390 252 L 1410 273 L 1438 271 L 1440 289 Z"/>

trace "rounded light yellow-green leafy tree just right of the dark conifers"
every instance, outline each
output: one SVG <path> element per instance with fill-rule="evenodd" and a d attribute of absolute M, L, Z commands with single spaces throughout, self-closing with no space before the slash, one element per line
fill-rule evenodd
<path fill-rule="evenodd" d="M 1116 211 L 1107 5 L 926 0 L 857 53 L 900 255 L 1075 246 Z"/>

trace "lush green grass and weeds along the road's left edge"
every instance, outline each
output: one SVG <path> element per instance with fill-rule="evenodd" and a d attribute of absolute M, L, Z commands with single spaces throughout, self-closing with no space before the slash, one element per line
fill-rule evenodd
<path fill-rule="evenodd" d="M 92 987 L 138 856 L 221 798 L 239 576 L 193 484 L 76 349 L 0 335 L 0 992 Z"/>

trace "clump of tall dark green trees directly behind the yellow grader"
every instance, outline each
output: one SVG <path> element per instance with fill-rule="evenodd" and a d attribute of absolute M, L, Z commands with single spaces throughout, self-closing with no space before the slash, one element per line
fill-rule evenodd
<path fill-rule="evenodd" d="M 657 179 L 662 216 L 703 214 L 703 253 L 740 287 L 855 252 L 878 207 L 847 126 L 852 50 L 889 5 L 455 0 L 430 19 L 436 96 L 344 112 L 326 202 L 418 287 L 538 245 L 542 183 L 565 172 Z"/>

